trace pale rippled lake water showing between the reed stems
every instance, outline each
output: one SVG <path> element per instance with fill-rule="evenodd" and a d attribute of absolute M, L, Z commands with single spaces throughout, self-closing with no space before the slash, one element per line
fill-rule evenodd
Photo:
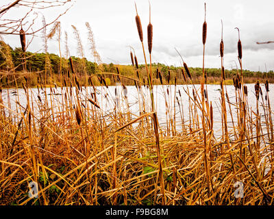
<path fill-rule="evenodd" d="M 263 96 L 265 96 L 266 94 L 266 90 L 264 88 L 264 85 L 261 84 L 262 87 L 262 92 L 263 92 Z M 122 86 L 109 86 L 109 88 L 105 88 L 103 86 L 101 87 L 97 87 L 97 101 L 98 104 L 101 107 L 101 110 L 103 110 L 103 112 L 105 114 L 108 114 L 108 112 L 112 112 L 115 104 L 119 106 L 119 109 L 121 112 L 127 112 L 127 107 L 126 105 L 129 105 L 129 111 L 132 113 L 132 118 L 134 118 L 136 116 L 139 116 L 139 101 L 142 100 L 142 98 L 140 97 L 141 94 L 140 92 L 138 93 L 137 89 L 135 86 L 127 86 L 127 92 L 125 93 L 123 90 Z M 199 88 L 200 85 L 195 85 L 196 90 L 198 90 L 198 93 L 200 94 Z M 206 88 L 206 87 L 205 87 Z M 208 90 L 208 101 L 212 102 L 212 107 L 213 107 L 213 112 L 214 112 L 214 132 L 218 132 L 221 129 L 221 92 L 220 92 L 220 88 L 221 86 L 219 85 L 207 85 L 207 90 Z M 254 90 L 254 84 L 247 84 L 247 88 L 248 88 L 248 95 L 247 95 L 247 100 L 249 103 L 249 107 L 256 112 L 256 96 L 255 96 L 255 90 Z M 69 88 L 67 88 L 69 89 Z M 115 89 L 116 89 L 116 94 L 115 95 Z M 158 120 L 161 126 L 165 126 L 166 125 L 166 101 L 168 103 L 168 105 L 170 106 L 169 110 L 170 110 L 170 114 L 171 117 L 173 118 L 173 114 L 174 114 L 174 98 L 175 95 L 177 96 L 177 98 L 179 99 L 179 103 L 180 103 L 180 107 L 177 104 L 177 101 L 175 101 L 175 114 L 176 114 L 176 125 L 178 127 L 178 129 L 180 129 L 182 127 L 182 120 L 181 120 L 181 116 L 182 114 L 180 113 L 180 109 L 184 111 L 184 120 L 186 121 L 186 123 L 188 123 L 188 119 L 189 119 L 189 96 L 186 93 L 187 90 L 189 90 L 190 92 L 190 96 L 192 97 L 192 89 L 193 86 L 192 85 L 177 85 L 176 86 L 176 94 L 175 94 L 175 86 L 154 86 L 153 87 L 153 94 L 154 94 L 154 99 L 155 99 L 155 106 L 157 109 L 157 113 L 158 113 Z M 235 88 L 234 86 L 226 86 L 227 89 L 227 94 L 229 96 L 229 100 L 232 103 L 236 103 L 236 99 L 235 99 Z M 53 88 L 53 90 L 55 91 L 55 94 L 60 94 L 61 93 L 61 88 Z M 66 88 L 63 88 L 63 93 L 65 92 Z M 82 98 L 84 99 L 84 94 L 86 92 L 86 90 L 84 88 L 82 88 L 83 90 L 83 94 L 82 94 Z M 167 94 L 167 90 L 169 90 L 169 95 Z M 271 102 L 271 108 L 273 108 L 273 103 L 274 103 L 274 95 L 271 94 L 271 92 L 273 92 L 274 90 L 274 84 L 269 84 L 269 99 Z M 47 99 L 50 103 L 50 99 L 52 99 L 53 101 L 55 101 L 55 103 L 58 103 L 59 105 L 62 104 L 62 96 L 61 95 L 49 95 L 50 93 L 50 88 L 46 88 L 46 92 L 47 92 Z M 75 88 L 73 88 L 73 92 L 75 93 Z M 94 92 L 92 87 L 88 87 L 87 88 L 87 92 L 89 95 L 89 98 L 91 98 L 90 93 Z M 179 96 L 179 92 L 181 94 L 181 96 Z M 25 95 L 25 91 L 23 90 L 23 88 L 18 89 L 18 94 L 17 94 L 17 90 L 16 89 L 3 89 L 2 92 L 2 99 L 3 99 L 3 104 L 8 106 L 8 93 L 10 96 L 10 108 L 12 110 L 16 110 L 16 101 L 18 100 L 19 103 L 25 107 L 27 105 L 27 99 L 26 99 L 26 95 Z M 150 107 L 150 92 L 149 89 L 142 86 L 142 93 L 143 93 L 143 98 L 145 99 L 145 103 L 147 103 L 145 105 L 145 107 L 147 107 L 147 112 L 150 111 L 149 107 Z M 29 88 L 29 94 L 32 94 L 32 100 L 34 101 L 34 113 L 37 114 L 36 112 L 36 108 L 37 108 L 37 104 L 38 104 L 38 89 L 37 88 Z M 105 95 L 107 95 L 105 98 Z M 125 101 L 124 97 L 125 95 L 127 96 L 127 101 Z M 81 96 L 81 95 L 80 95 Z M 42 93 L 42 90 L 40 90 L 40 97 L 42 99 L 42 101 L 45 101 L 45 93 Z M 182 99 L 181 99 L 182 97 Z M 166 101 L 165 101 L 166 100 Z M 71 100 L 73 102 L 73 100 Z M 141 101 L 142 103 L 142 101 Z M 264 103 L 266 103 L 266 101 L 264 100 Z M 262 104 L 262 99 L 260 97 L 260 105 Z M 182 107 L 183 105 L 183 107 Z M 18 107 L 18 105 L 17 105 Z M 58 110 L 58 108 L 56 107 L 56 110 Z M 231 116 L 229 115 L 229 107 L 227 105 L 227 123 L 228 126 L 232 126 L 231 124 Z M 199 113 L 199 110 L 198 110 Z M 232 105 L 232 113 L 234 114 L 234 121 L 236 121 L 236 107 L 234 107 Z M 260 107 L 260 114 L 262 116 L 262 121 L 263 119 L 263 115 L 264 115 L 264 110 L 262 109 L 262 107 Z M 37 115 L 38 116 L 38 115 Z M 253 118 L 255 118 L 255 116 L 253 115 Z"/>

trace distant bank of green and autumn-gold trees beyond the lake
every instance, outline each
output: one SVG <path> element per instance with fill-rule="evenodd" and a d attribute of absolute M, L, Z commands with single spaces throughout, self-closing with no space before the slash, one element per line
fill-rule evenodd
<path fill-rule="evenodd" d="M 27 72 L 28 73 L 38 73 L 38 75 L 43 78 L 45 75 L 47 77 L 52 77 L 55 83 L 60 82 L 60 56 L 52 53 L 32 53 L 29 51 L 25 52 L 25 58 L 27 60 Z M 23 72 L 23 51 L 21 48 L 12 49 L 5 42 L 0 41 L 0 71 L 5 73 L 5 77 L 7 75 L 12 75 L 12 73 L 22 73 Z M 95 62 L 90 62 L 86 60 L 86 58 L 79 58 L 72 56 L 73 66 L 75 73 L 77 73 L 77 77 L 79 77 L 79 81 L 85 81 L 82 79 L 85 75 L 95 76 L 97 74 L 103 73 L 103 77 L 108 77 L 108 81 L 110 81 L 109 85 L 115 84 L 115 77 L 113 77 L 112 73 L 117 73 L 116 67 L 119 68 L 119 73 L 121 75 L 125 75 L 127 77 L 136 77 L 136 66 L 132 65 L 116 65 L 116 64 L 101 64 L 98 65 Z M 66 77 L 71 72 L 71 67 L 69 64 L 69 59 L 62 57 L 62 75 Z M 163 83 L 174 83 L 175 77 L 177 79 L 177 83 L 190 83 L 189 80 L 184 81 L 182 76 L 182 67 L 177 66 L 166 66 L 165 64 L 153 63 L 153 78 L 154 83 L 159 84 L 160 80 L 156 79 L 156 71 L 160 71 L 163 79 Z M 190 73 L 192 74 L 193 81 L 195 83 L 199 83 L 201 81 L 202 68 L 189 68 Z M 47 74 L 45 74 L 45 71 Z M 138 72 L 140 75 L 140 79 L 142 81 L 147 81 L 147 73 L 144 64 L 139 64 Z M 225 78 L 232 79 L 237 73 L 240 74 L 240 70 L 238 69 L 225 69 Z M 170 80 L 168 80 L 169 75 Z M 221 78 L 221 68 L 206 68 L 206 75 L 208 77 L 208 83 L 217 83 L 218 79 Z M 273 70 L 270 70 L 268 73 L 261 71 L 250 71 L 243 70 L 243 75 L 246 79 L 246 83 L 256 82 L 257 79 L 262 82 L 265 79 L 269 79 L 269 82 L 274 82 L 274 73 Z M 3 74 L 0 75 L 1 79 L 3 79 Z M 62 77 L 62 80 L 64 79 Z M 123 77 L 122 77 L 123 79 Z M 100 81 L 100 80 L 99 80 Z M 50 82 L 50 81 L 49 81 Z M 52 82 L 52 81 L 51 81 Z M 125 85 L 134 85 L 134 81 L 124 78 L 123 82 Z M 32 85 L 35 85 L 35 81 Z M 96 79 L 96 83 L 98 85 L 98 80 Z M 2 85 L 3 86 L 3 85 Z"/>

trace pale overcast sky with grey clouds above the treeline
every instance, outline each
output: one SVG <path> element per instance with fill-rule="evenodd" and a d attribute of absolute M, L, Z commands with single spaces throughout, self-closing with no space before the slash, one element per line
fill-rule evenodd
<path fill-rule="evenodd" d="M 1 0 L 8 3 L 8 0 Z M 180 59 L 174 47 L 182 54 L 188 66 L 201 67 L 203 44 L 201 40 L 204 21 L 204 3 L 207 5 L 206 21 L 208 38 L 206 41 L 206 67 L 220 68 L 219 44 L 221 41 L 221 19 L 223 19 L 223 41 L 225 44 L 224 66 L 231 69 L 238 64 L 237 42 L 240 29 L 242 41 L 242 64 L 249 70 L 274 70 L 274 44 L 256 42 L 274 40 L 273 0 L 229 0 L 229 1 L 182 1 L 150 0 L 151 23 L 153 25 L 152 61 L 180 66 Z M 147 51 L 147 25 L 149 23 L 149 1 L 136 0 L 138 14 L 142 22 L 144 43 Z M 47 21 L 64 11 L 62 8 L 45 10 Z M 12 13 L 12 12 L 11 12 Z M 13 18 L 21 16 L 20 10 Z M 71 25 L 79 29 L 84 52 L 88 60 L 93 60 L 87 44 L 86 22 L 90 23 L 97 51 L 105 63 L 130 64 L 129 47 L 136 51 L 138 62 L 144 62 L 142 47 L 135 23 L 136 11 L 133 0 L 76 0 L 69 12 L 60 18 L 62 30 L 69 34 L 71 55 L 77 55 L 76 40 Z M 41 22 L 41 16 L 36 20 Z M 49 28 L 50 29 L 50 28 Z M 37 34 L 39 36 L 39 34 Z M 4 36 L 12 47 L 20 47 L 18 36 Z M 62 35 L 64 53 L 64 34 Z M 42 49 L 42 39 L 37 37 L 29 46 L 29 51 Z M 42 51 L 41 51 L 42 52 Z M 49 42 L 49 52 L 58 54 L 56 41 Z M 238 65 L 239 66 L 239 65 Z M 266 66 L 266 68 L 265 68 Z"/>

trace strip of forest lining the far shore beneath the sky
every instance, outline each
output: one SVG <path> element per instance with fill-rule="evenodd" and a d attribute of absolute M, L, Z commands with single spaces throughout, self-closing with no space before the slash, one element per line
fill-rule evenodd
<path fill-rule="evenodd" d="M 46 86 L 52 85 L 53 83 L 57 86 L 64 86 L 64 79 L 66 79 L 66 82 L 70 81 L 72 74 L 69 57 L 62 57 L 62 60 L 60 60 L 60 56 L 53 53 L 32 53 L 26 51 L 25 58 L 26 71 L 23 70 L 24 57 L 22 49 L 12 49 L 10 45 L 0 41 L 0 80 L 2 88 L 12 88 L 16 86 L 16 83 L 17 86 L 21 87 L 21 83 L 25 81 L 25 79 L 27 79 L 28 85 L 31 87 L 37 86 L 39 79 L 41 79 Z M 137 69 L 136 65 L 117 65 L 113 63 L 97 64 L 96 62 L 88 61 L 86 57 L 71 56 L 71 59 L 73 60 L 73 68 L 81 86 L 84 86 L 86 81 L 88 81 L 86 77 L 92 79 L 92 83 L 94 83 L 95 86 L 100 86 L 103 83 L 101 76 L 105 79 L 105 83 L 108 86 L 114 86 L 116 83 L 115 74 L 117 73 L 125 76 L 122 79 L 122 83 L 125 86 L 133 86 L 134 81 L 127 77 L 137 79 L 136 70 L 138 70 L 140 80 L 142 80 L 143 83 L 148 83 L 145 64 L 139 64 Z M 60 61 L 62 62 L 62 75 L 60 75 Z M 166 66 L 160 63 L 152 63 L 151 65 L 154 84 L 161 83 L 157 72 L 161 73 L 163 84 L 174 84 L 175 78 L 177 84 L 191 83 L 188 78 L 184 80 L 181 66 Z M 239 73 L 237 66 L 234 66 L 234 68 L 231 66 L 231 68 L 230 70 L 225 69 L 227 85 L 233 84 L 233 77 L 236 77 L 237 73 Z M 190 67 L 189 70 L 193 83 L 200 83 L 203 69 Z M 270 70 L 268 73 L 242 70 L 242 73 L 245 77 L 245 83 L 256 83 L 258 80 L 264 83 L 266 79 L 270 83 L 274 82 L 273 70 Z M 221 68 L 206 68 L 206 77 L 206 82 L 209 84 L 219 83 L 222 77 Z"/>

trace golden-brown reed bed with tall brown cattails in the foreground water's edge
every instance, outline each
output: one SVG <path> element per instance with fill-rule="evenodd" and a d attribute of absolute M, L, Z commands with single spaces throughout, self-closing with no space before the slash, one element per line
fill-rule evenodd
<path fill-rule="evenodd" d="M 269 81 L 263 85 L 266 89 L 256 83 L 257 107 L 249 107 L 242 76 L 240 34 L 241 70 L 233 79 L 234 96 L 227 94 L 223 73 L 221 134 L 216 137 L 204 61 L 201 86 L 192 83 L 190 88 L 179 90 L 175 77 L 174 92 L 170 76 L 164 86 L 162 73 L 157 70 L 156 79 L 162 83 L 160 89 L 166 106 L 166 124 L 159 125 L 151 71 L 151 17 L 147 27 L 149 68 L 137 7 L 136 14 L 146 77 L 140 78 L 138 60 L 131 48 L 136 77 L 121 75 L 117 66 L 116 73 L 112 73 L 116 81 L 114 94 L 104 74 L 90 76 L 85 86 L 80 86 L 71 58 L 60 89 L 53 83 L 48 92 L 45 81 L 39 79 L 36 95 L 25 78 L 22 86 L 27 104 L 17 98 L 15 110 L 9 97 L 8 104 L 3 103 L 0 92 L 0 204 L 273 205 L 271 90 Z M 203 57 L 206 28 L 205 5 Z M 220 54 L 224 71 L 223 34 Z M 188 65 L 183 58 L 182 61 L 182 78 L 192 81 Z M 126 79 L 134 81 L 139 114 L 130 110 L 129 94 L 123 83 Z M 95 86 L 95 80 L 101 86 Z M 18 85 L 16 89 L 18 92 Z M 188 95 L 187 102 L 182 99 L 182 92 Z M 60 98 L 55 99 L 55 95 Z M 105 112 L 99 99 L 110 110 Z M 183 107 L 186 103 L 187 113 Z M 227 120 L 232 121 L 231 127 L 227 127 Z M 38 198 L 28 196 L 32 181 L 38 183 Z M 242 196 L 236 192 L 239 183 Z"/>

